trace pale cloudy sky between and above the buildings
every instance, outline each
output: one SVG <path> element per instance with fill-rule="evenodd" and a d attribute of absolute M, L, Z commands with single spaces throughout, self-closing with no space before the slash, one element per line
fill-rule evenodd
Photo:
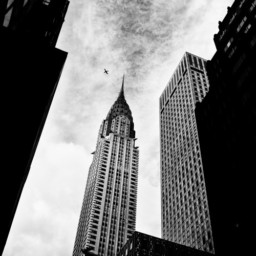
<path fill-rule="evenodd" d="M 212 58 L 232 3 L 70 1 L 56 46 L 68 58 L 4 256 L 72 255 L 91 153 L 123 74 L 140 150 L 136 230 L 161 238 L 158 100 L 186 51 Z"/>

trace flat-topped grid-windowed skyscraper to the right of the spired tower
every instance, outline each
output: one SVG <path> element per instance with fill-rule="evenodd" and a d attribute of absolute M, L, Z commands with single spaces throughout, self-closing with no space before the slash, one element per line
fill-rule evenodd
<path fill-rule="evenodd" d="M 159 99 L 162 238 L 213 253 L 194 112 L 209 88 L 205 64 L 186 52 Z"/>

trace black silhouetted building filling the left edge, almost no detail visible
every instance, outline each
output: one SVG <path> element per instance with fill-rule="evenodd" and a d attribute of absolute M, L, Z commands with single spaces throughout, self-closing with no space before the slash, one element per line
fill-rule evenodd
<path fill-rule="evenodd" d="M 0 4 L 2 254 L 67 52 L 55 48 L 67 0 Z"/>

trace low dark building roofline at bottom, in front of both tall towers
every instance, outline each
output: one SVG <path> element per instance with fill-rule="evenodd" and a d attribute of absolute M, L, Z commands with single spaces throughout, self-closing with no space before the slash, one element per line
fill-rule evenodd
<path fill-rule="evenodd" d="M 209 252 L 135 231 L 117 256 L 210 256 Z"/>

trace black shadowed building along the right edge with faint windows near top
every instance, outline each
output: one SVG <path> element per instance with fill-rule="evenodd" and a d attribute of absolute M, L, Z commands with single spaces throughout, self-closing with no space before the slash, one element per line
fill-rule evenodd
<path fill-rule="evenodd" d="M 256 1 L 234 1 L 214 36 L 196 120 L 216 255 L 255 255 Z"/>

